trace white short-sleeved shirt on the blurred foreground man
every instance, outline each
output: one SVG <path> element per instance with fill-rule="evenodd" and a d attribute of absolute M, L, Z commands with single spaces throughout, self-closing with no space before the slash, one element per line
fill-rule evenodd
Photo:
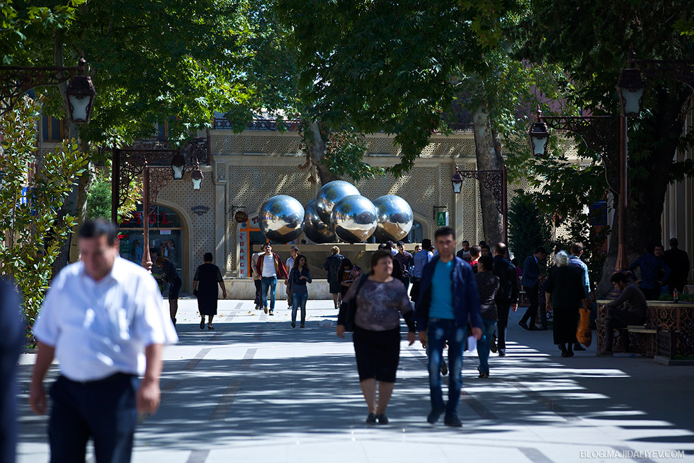
<path fill-rule="evenodd" d="M 60 373 L 70 380 L 142 375 L 146 346 L 178 342 L 162 302 L 154 278 L 133 262 L 117 257 L 99 281 L 76 262 L 53 280 L 33 332 L 56 348 Z"/>

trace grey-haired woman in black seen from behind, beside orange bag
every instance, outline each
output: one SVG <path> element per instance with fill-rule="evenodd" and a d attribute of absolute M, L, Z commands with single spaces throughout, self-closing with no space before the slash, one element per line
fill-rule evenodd
<path fill-rule="evenodd" d="M 555 254 L 555 267 L 545 289 L 547 311 L 554 314 L 554 340 L 562 357 L 573 357 L 573 343 L 578 328 L 578 309 L 588 307 L 583 275 L 578 267 L 568 265 L 568 254 Z"/>

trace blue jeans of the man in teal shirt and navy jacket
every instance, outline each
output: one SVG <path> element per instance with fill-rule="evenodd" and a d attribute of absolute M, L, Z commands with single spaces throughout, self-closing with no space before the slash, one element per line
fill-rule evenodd
<path fill-rule="evenodd" d="M 446 410 L 446 415 L 457 415 L 460 389 L 463 386 L 463 348 L 467 325 L 456 325 L 455 320 L 429 319 L 429 389 L 432 409 Z M 441 392 L 441 356 L 448 342 L 448 403 L 443 403 Z"/>

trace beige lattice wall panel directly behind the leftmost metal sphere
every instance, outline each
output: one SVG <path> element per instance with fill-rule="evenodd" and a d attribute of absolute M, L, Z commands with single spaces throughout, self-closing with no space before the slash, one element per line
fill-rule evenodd
<path fill-rule="evenodd" d="M 272 196 L 287 194 L 303 205 L 311 201 L 312 184 L 308 181 L 308 171 L 291 167 L 266 166 L 233 166 L 228 169 L 229 204 L 244 205 L 246 212 L 253 215 L 260 206 Z M 237 223 L 230 220 L 228 224 L 228 264 L 229 269 L 236 269 L 236 235 Z"/>

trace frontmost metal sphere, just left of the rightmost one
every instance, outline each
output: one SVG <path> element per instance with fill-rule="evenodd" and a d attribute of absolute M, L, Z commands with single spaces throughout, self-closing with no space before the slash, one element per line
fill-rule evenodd
<path fill-rule="evenodd" d="M 358 194 L 345 196 L 332 209 L 330 224 L 343 241 L 364 242 L 373 235 L 378 225 L 376 208 L 364 196 Z"/>

